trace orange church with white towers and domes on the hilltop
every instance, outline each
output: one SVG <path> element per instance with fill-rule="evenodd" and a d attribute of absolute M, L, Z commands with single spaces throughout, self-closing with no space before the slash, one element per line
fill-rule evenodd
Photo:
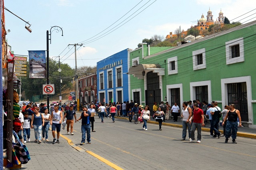
<path fill-rule="evenodd" d="M 214 21 L 212 11 L 209 8 L 206 18 L 204 18 L 204 14 L 202 14 L 201 18 L 199 20 L 197 20 L 197 25 L 195 25 L 195 26 L 191 25 L 190 28 L 195 28 L 195 29 L 199 30 L 199 34 L 202 34 L 203 32 L 207 31 L 209 26 L 212 24 L 224 24 L 224 19 L 225 19 L 225 17 L 223 16 L 223 12 L 220 9 L 219 16 Z M 181 37 L 186 37 L 188 30 L 187 31 L 182 30 Z M 177 36 L 176 34 L 172 34 L 172 32 L 170 32 L 170 34 L 166 36 L 166 39 L 176 37 L 176 36 Z"/>

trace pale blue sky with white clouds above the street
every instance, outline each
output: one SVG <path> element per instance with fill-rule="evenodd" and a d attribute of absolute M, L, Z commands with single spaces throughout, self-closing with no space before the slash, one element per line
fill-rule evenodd
<path fill-rule="evenodd" d="M 230 22 L 256 20 L 255 0 L 183 0 L 180 4 L 172 0 L 5 0 L 4 6 L 31 24 L 32 33 L 24 21 L 5 10 L 6 30 L 10 30 L 6 40 L 14 54 L 46 50 L 46 31 L 59 26 L 63 36 L 52 31 L 49 55 L 60 56 L 60 62 L 72 68 L 75 49 L 68 44 L 83 43 L 77 46 L 78 67 L 94 66 L 119 51 L 135 49 L 144 38 L 166 37 L 179 27 L 187 30 L 202 14 L 206 18 L 209 8 L 214 20 L 220 10 Z"/>

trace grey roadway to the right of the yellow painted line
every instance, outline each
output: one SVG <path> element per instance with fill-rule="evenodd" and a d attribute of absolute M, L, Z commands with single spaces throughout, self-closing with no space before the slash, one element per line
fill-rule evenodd
<path fill-rule="evenodd" d="M 147 124 L 129 123 L 127 120 L 101 119 L 95 117 L 91 143 L 81 146 L 102 156 L 123 169 L 254 169 L 256 166 L 256 140 L 250 138 L 232 139 L 224 143 L 225 138 L 212 138 L 208 132 L 202 132 L 201 143 L 190 143 L 182 138 L 182 129 Z M 81 123 L 74 123 L 74 135 L 65 137 L 79 144 L 81 141 Z M 196 140 L 195 140 L 196 141 Z"/>

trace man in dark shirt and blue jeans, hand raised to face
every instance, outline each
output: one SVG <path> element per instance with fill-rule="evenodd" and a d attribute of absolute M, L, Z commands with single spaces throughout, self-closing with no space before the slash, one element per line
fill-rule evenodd
<path fill-rule="evenodd" d="M 81 125 L 81 131 L 82 131 L 82 140 L 80 145 L 84 145 L 85 144 L 85 133 L 87 134 L 87 143 L 91 144 L 91 122 L 90 122 L 90 117 L 91 117 L 91 113 L 87 112 L 87 107 L 83 106 L 83 112 L 81 114 L 81 116 L 77 119 L 77 121 L 79 121 L 80 119 L 82 119 L 82 125 Z"/>

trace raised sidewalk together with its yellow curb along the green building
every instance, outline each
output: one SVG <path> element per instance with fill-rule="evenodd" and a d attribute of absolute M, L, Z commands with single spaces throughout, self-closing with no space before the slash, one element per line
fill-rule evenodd
<path fill-rule="evenodd" d="M 128 117 L 116 117 L 116 118 L 129 121 Z M 156 122 L 155 120 L 152 120 L 152 117 L 150 118 L 150 121 L 148 121 L 148 123 L 158 124 L 158 122 Z M 182 121 L 174 122 L 172 119 L 170 119 L 170 120 L 166 120 L 165 122 L 163 122 L 162 126 L 182 128 Z M 205 127 L 202 127 L 202 131 L 210 133 L 209 126 L 210 126 L 210 123 L 206 124 Z M 222 126 L 219 126 L 219 130 L 223 134 Z M 248 128 L 248 127 L 238 127 L 237 136 L 256 139 L 256 129 L 252 129 L 252 128 Z"/>

